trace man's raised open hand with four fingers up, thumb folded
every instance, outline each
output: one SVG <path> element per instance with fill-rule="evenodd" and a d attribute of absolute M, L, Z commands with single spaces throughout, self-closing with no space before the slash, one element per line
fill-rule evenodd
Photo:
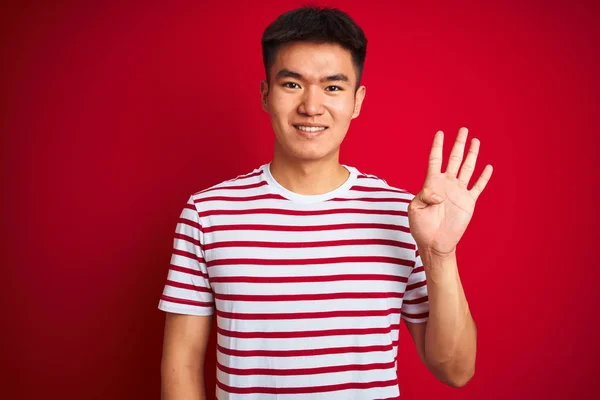
<path fill-rule="evenodd" d="M 477 139 L 472 140 L 469 154 L 457 177 L 467 134 L 466 128 L 459 130 L 448 167 L 443 173 L 441 172 L 443 133 L 438 132 L 434 138 L 423 190 L 415 196 L 408 208 L 411 234 L 421 253 L 430 251 L 448 254 L 456 249 L 471 221 L 477 197 L 491 177 L 492 166 L 488 165 L 473 188 L 471 190 L 467 188 L 479 151 Z M 430 201 L 429 196 L 433 193 L 442 197 L 443 201 L 441 203 Z"/>

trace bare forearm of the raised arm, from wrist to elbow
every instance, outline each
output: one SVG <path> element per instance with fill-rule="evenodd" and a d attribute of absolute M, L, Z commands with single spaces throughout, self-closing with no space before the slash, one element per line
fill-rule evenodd
<path fill-rule="evenodd" d="M 440 380 L 463 386 L 475 372 L 477 330 L 458 274 L 456 254 L 421 257 L 429 297 L 425 356 Z"/>

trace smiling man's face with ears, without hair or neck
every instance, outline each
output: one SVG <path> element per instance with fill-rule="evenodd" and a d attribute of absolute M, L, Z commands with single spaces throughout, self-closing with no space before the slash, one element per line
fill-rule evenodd
<path fill-rule="evenodd" d="M 261 94 L 275 152 L 298 161 L 337 157 L 366 91 L 361 86 L 355 95 L 351 53 L 332 43 L 293 42 L 280 47 L 269 74 Z"/>

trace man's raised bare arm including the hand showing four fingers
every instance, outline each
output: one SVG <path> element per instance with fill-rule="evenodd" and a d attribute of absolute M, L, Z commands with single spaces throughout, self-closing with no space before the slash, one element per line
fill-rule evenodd
<path fill-rule="evenodd" d="M 459 129 L 446 171 L 441 172 L 444 133 L 436 133 L 425 184 L 408 205 L 411 234 L 421 251 L 427 280 L 429 320 L 423 327 L 407 327 L 423 362 L 441 381 L 455 387 L 464 386 L 473 376 L 477 343 L 477 329 L 458 275 L 456 246 L 493 171 L 486 165 L 468 189 L 480 142 L 471 140 L 463 163 L 467 135 L 468 129 Z"/>

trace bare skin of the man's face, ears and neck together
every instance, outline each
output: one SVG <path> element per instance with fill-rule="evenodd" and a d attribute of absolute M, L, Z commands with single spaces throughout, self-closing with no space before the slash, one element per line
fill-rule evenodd
<path fill-rule="evenodd" d="M 356 79 L 350 51 L 337 44 L 293 42 L 280 47 L 269 70 L 270 84 L 262 81 L 260 91 L 275 133 L 271 173 L 287 189 L 321 194 L 348 178 L 339 164 L 340 145 L 366 94 L 365 86 L 356 87 Z M 294 127 L 302 123 L 327 129 L 308 138 Z"/>

